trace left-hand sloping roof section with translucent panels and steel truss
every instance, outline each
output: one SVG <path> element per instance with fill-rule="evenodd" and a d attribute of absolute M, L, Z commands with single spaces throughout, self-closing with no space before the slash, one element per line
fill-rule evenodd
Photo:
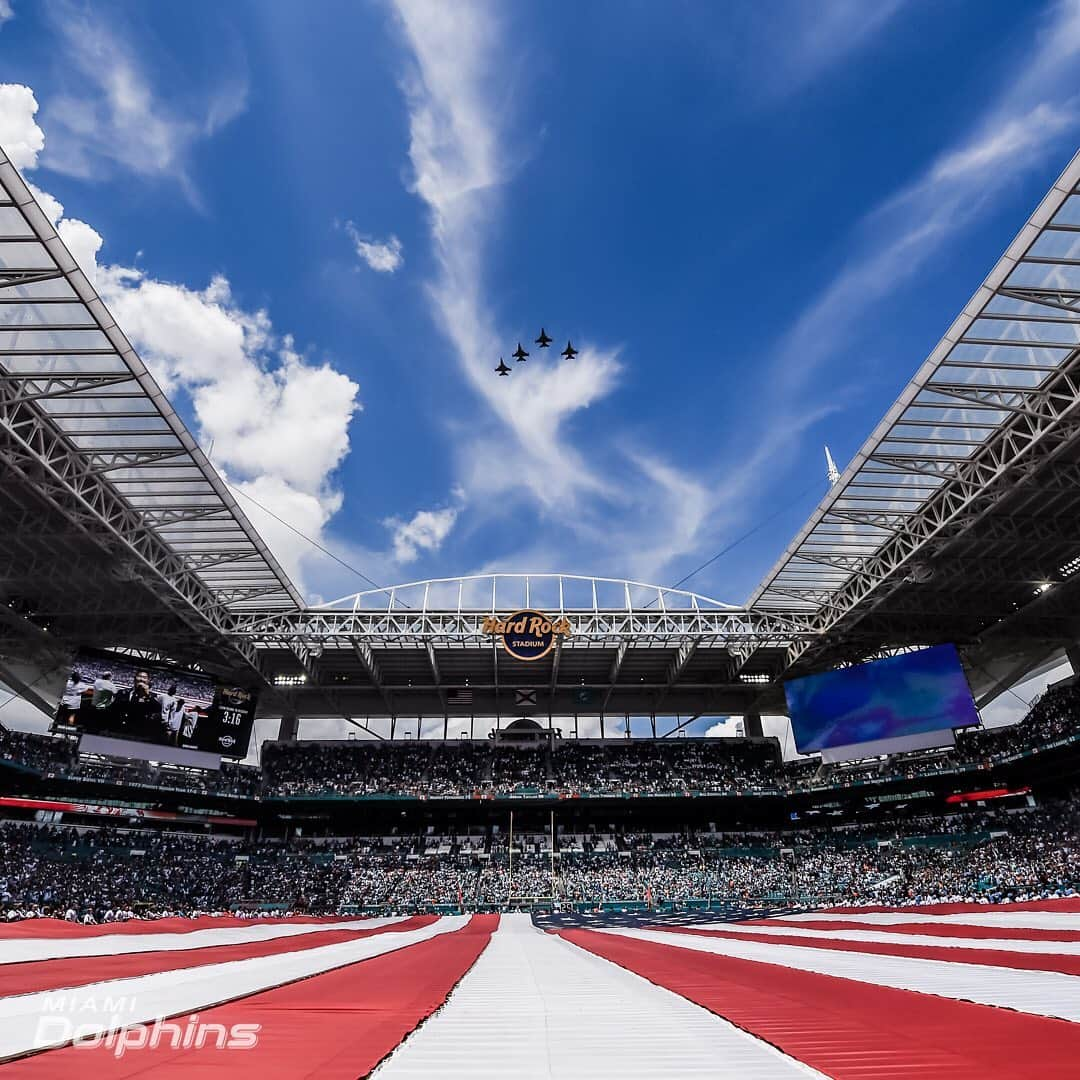
<path fill-rule="evenodd" d="M 228 634 L 253 607 L 300 604 L 2 151 L 0 462 L 13 499 L 0 558 L 31 589 L 50 572 L 78 580 L 82 557 L 35 542 L 43 502 L 193 634 Z M 93 582 L 99 564 L 85 559 Z"/>

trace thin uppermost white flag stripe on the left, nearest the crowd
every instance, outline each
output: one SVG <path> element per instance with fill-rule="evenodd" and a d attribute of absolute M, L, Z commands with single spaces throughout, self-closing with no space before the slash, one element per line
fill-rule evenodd
<path fill-rule="evenodd" d="M 349 922 L 255 923 L 249 927 L 217 927 L 178 934 L 103 934 L 95 937 L 16 937 L 0 941 L 0 964 L 31 960 L 75 959 L 84 956 L 119 956 L 122 953 L 175 953 L 214 945 L 246 945 L 299 934 L 332 930 L 374 930 L 403 921 L 400 918 L 354 919 Z"/>

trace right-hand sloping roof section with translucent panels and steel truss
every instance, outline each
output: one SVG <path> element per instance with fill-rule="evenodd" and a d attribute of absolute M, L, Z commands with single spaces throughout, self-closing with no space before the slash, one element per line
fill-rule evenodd
<path fill-rule="evenodd" d="M 1005 568 L 990 552 L 1004 534 L 1028 542 L 1029 580 L 1055 580 L 1045 576 L 1059 572 L 1059 548 L 1040 548 L 1038 538 L 1061 523 L 1039 507 L 1021 516 L 999 511 L 1025 483 L 1043 507 L 1076 483 L 1078 183 L 1080 154 L 754 592 L 752 608 L 804 615 L 819 634 L 841 621 L 850 627 L 897 575 L 919 582 L 936 570 L 940 580 L 941 546 L 976 529 L 985 554 L 948 564 L 953 572 L 1000 582 Z M 1010 572 L 1004 580 L 1015 580 Z M 811 642 L 794 643 L 791 659 Z"/>

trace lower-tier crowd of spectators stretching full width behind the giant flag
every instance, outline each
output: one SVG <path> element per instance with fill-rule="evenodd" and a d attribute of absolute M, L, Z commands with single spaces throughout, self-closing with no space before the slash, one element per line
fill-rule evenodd
<path fill-rule="evenodd" d="M 783 833 L 242 841 L 0 824 L 0 916 L 1003 901 L 1076 895 L 1080 809 Z M 124 914 L 126 913 L 126 914 Z"/>

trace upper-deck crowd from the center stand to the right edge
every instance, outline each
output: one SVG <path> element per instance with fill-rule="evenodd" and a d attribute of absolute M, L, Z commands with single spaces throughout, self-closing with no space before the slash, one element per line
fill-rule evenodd
<path fill-rule="evenodd" d="M 784 764 L 773 743 L 739 740 L 562 740 L 552 747 L 414 742 L 268 744 L 268 795 L 418 794 L 549 791 L 575 795 L 696 791 L 812 792 L 976 770 L 1080 734 L 1080 689 L 1044 693 L 1009 728 L 961 731 L 945 751 L 895 755 L 850 766 L 820 759 Z"/>

